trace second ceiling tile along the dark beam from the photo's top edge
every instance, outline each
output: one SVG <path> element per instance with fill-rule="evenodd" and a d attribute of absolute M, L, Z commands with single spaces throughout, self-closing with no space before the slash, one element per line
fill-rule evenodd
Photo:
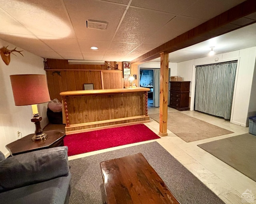
<path fill-rule="evenodd" d="M 176 16 L 163 28 L 155 32 L 152 36 L 147 38 L 143 43 L 144 44 L 158 44 L 158 46 L 168 42 L 177 36 L 191 30 L 192 28 L 202 24 L 204 20 L 190 18 L 186 16 Z M 182 25 L 182 26 L 181 26 Z"/>

